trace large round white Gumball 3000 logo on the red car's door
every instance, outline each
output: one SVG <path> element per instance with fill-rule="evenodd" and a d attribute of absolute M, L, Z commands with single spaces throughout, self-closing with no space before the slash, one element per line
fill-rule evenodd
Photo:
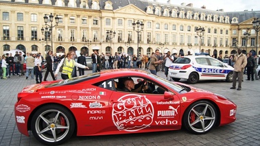
<path fill-rule="evenodd" d="M 118 130 L 135 132 L 151 125 L 154 118 L 152 102 L 141 95 L 124 95 L 113 104 L 112 118 Z"/>

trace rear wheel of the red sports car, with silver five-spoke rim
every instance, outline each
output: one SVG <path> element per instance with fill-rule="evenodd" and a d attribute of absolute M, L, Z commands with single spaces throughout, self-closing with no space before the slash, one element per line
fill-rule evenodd
<path fill-rule="evenodd" d="M 51 104 L 35 112 L 31 126 L 32 134 L 41 143 L 60 145 L 73 135 L 75 120 L 67 108 Z"/>

